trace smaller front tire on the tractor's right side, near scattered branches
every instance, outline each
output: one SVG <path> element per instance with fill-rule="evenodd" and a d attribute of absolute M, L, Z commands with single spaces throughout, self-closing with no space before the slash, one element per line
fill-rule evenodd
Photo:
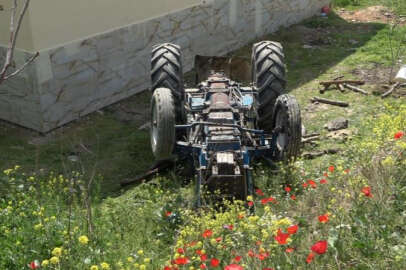
<path fill-rule="evenodd" d="M 284 94 L 276 99 L 272 127 L 277 134 L 276 160 L 296 159 L 302 143 L 302 120 L 299 104 L 294 96 Z"/>

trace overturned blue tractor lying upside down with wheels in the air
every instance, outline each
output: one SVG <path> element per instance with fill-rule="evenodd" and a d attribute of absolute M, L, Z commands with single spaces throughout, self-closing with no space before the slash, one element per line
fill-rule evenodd
<path fill-rule="evenodd" d="M 252 85 L 211 71 L 185 89 L 179 46 L 152 50 L 151 146 L 157 160 L 193 161 L 197 205 L 203 190 L 244 200 L 254 192 L 252 164 L 295 158 L 301 144 L 300 109 L 285 94 L 281 44 L 253 46 Z"/>

